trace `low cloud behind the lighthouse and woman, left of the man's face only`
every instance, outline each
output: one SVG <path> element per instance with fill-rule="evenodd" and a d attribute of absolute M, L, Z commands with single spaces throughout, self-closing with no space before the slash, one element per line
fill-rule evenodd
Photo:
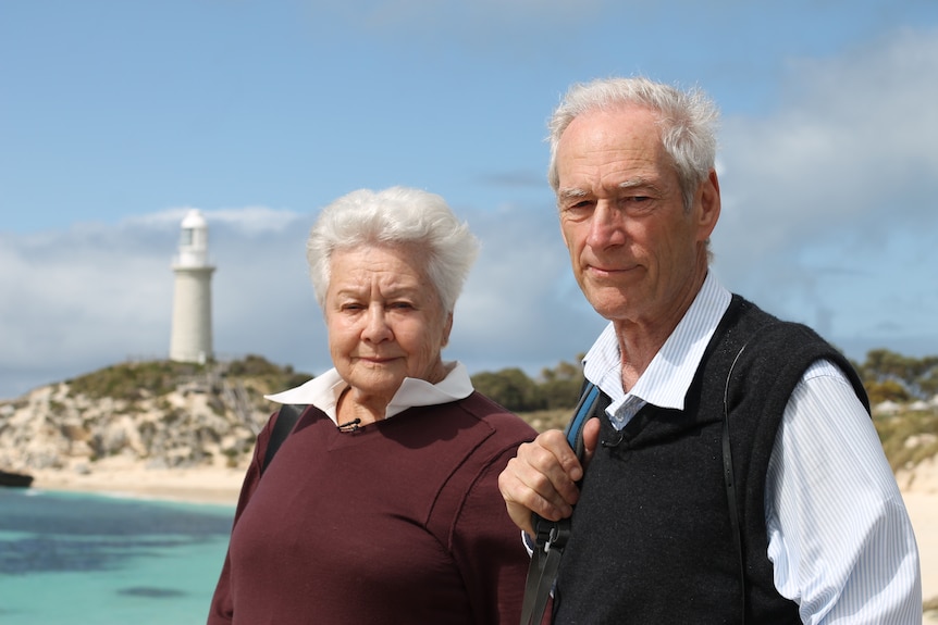
<path fill-rule="evenodd" d="M 126 358 L 165 358 L 178 224 L 187 208 L 11 236 L 0 248 L 0 397 Z M 313 374 L 330 366 L 307 275 L 311 215 L 245 208 L 209 222 L 214 350 L 258 353 Z M 483 246 L 445 358 L 532 375 L 584 349 L 601 320 L 568 278 L 554 208 L 462 214 Z M 560 286 L 558 286 L 558 284 Z M 575 292 L 570 292 L 575 291 Z M 594 323 L 583 323 L 583 313 Z M 558 332 L 559 327 L 565 328 Z"/>

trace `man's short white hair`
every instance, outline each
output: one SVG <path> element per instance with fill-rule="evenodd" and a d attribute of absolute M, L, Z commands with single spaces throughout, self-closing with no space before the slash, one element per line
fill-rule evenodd
<path fill-rule="evenodd" d="M 643 107 L 657 114 L 665 152 L 675 163 L 683 204 L 690 210 L 698 186 L 714 168 L 719 112 L 703 91 L 682 91 L 643 77 L 604 78 L 570 87 L 548 123 L 551 187 L 555 192 L 559 188 L 557 143 L 570 122 L 589 111 L 620 107 Z"/>

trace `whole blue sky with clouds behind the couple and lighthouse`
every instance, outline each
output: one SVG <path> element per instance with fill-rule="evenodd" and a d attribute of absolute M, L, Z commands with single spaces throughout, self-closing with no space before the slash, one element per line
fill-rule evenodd
<path fill-rule="evenodd" d="M 215 350 L 329 366 L 304 241 L 356 188 L 480 236 L 446 358 L 536 374 L 603 321 L 569 276 L 545 121 L 642 74 L 719 104 L 714 271 L 851 358 L 938 353 L 934 0 L 0 0 L 0 397 L 169 350 L 178 223 Z"/>

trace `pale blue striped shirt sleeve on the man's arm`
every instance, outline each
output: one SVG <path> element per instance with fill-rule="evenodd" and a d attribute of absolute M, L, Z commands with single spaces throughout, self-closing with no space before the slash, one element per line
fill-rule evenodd
<path fill-rule="evenodd" d="M 799 382 L 766 474 L 775 586 L 806 624 L 922 622 L 912 524 L 876 428 L 842 372 Z"/>

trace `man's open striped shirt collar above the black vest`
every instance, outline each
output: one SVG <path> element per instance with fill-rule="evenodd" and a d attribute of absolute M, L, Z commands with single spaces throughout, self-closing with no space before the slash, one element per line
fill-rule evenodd
<path fill-rule="evenodd" d="M 707 272 L 688 312 L 629 393 L 622 389 L 621 353 L 610 322 L 583 359 L 587 379 L 613 400 L 608 412 L 614 414 L 627 402 L 633 402 L 633 398 L 659 408 L 682 410 L 706 346 L 731 299 L 713 272 Z"/>

